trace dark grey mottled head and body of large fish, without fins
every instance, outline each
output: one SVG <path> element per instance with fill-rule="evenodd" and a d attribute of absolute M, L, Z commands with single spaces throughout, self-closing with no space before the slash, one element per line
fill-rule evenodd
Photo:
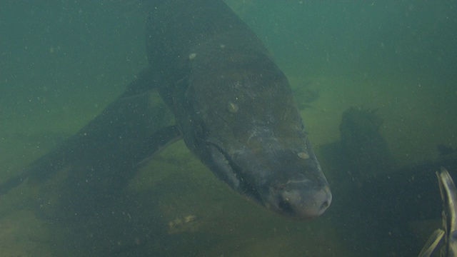
<path fill-rule="evenodd" d="M 223 1 L 159 1 L 146 35 L 159 92 L 216 176 L 285 216 L 326 210 L 331 193 L 286 76 Z"/>

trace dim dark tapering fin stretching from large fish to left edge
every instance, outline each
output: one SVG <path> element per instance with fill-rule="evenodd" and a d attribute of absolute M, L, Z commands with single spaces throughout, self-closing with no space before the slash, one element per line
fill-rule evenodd
<path fill-rule="evenodd" d="M 124 94 L 76 134 L 26 166 L 19 175 L 0 183 L 0 195 L 23 181 L 40 183 L 64 171 L 68 171 L 69 185 L 85 177 L 127 183 L 126 178 L 134 176 L 133 167 L 139 161 L 137 150 L 145 138 L 154 138 L 155 131 L 173 122 L 173 114 L 159 93 L 152 90 L 156 81 L 154 72 L 148 74 L 149 71 L 142 71 Z"/>

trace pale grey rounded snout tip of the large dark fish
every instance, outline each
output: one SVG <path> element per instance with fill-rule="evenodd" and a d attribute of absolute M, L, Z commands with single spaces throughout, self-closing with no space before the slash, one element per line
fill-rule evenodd
<path fill-rule="evenodd" d="M 325 185 L 310 188 L 306 182 L 289 182 L 273 191 L 273 203 L 267 206 L 273 211 L 291 218 L 308 220 L 320 216 L 331 203 L 330 188 Z"/>

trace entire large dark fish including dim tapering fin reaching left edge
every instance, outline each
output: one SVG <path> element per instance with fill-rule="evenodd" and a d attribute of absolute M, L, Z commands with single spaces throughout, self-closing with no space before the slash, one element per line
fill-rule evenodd
<path fill-rule="evenodd" d="M 331 191 L 291 86 L 256 34 L 223 1 L 153 5 L 149 69 L 76 135 L 1 185 L 1 193 L 26 178 L 65 171 L 64 189 L 79 197 L 71 208 L 101 204 L 134 176 L 137 163 L 183 138 L 221 181 L 261 206 L 299 220 L 326 211 Z M 176 124 L 168 123 L 164 106 L 151 104 L 153 89 Z M 106 199 L 94 200 L 101 195 Z"/>

